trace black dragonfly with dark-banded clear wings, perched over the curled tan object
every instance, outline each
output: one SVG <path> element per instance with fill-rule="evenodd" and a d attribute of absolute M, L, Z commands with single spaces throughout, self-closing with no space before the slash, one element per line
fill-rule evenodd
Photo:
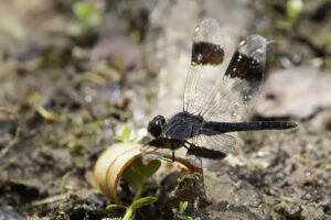
<path fill-rule="evenodd" d="M 160 157 L 158 150 L 168 148 L 173 162 L 175 150 L 185 147 L 186 157 L 202 166 L 201 158 L 220 161 L 234 150 L 236 139 L 229 132 L 296 128 L 290 121 L 244 122 L 264 79 L 267 44 L 260 35 L 247 36 L 222 72 L 221 28 L 214 19 L 202 20 L 194 29 L 183 110 L 169 120 L 157 116 L 149 122 L 153 139 L 142 148 L 143 155 Z"/>

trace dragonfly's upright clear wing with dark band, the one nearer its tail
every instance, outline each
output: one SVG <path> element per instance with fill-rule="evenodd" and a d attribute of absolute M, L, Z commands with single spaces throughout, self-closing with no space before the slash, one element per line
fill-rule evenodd
<path fill-rule="evenodd" d="M 267 41 L 250 35 L 234 53 L 225 75 L 205 98 L 201 114 L 209 121 L 243 121 L 263 82 Z"/>

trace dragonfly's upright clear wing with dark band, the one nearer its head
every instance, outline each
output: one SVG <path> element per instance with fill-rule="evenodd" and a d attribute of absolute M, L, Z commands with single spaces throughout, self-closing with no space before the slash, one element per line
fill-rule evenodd
<path fill-rule="evenodd" d="M 221 72 L 224 42 L 216 20 L 205 19 L 194 29 L 191 66 L 184 87 L 184 111 L 199 114 Z"/>

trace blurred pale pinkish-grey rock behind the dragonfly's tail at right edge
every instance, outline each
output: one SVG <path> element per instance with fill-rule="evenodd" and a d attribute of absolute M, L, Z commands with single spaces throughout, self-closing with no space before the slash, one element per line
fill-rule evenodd
<path fill-rule="evenodd" d="M 331 107 L 330 85 L 331 75 L 314 68 L 277 72 L 267 79 L 255 111 L 264 118 L 308 118 Z"/>

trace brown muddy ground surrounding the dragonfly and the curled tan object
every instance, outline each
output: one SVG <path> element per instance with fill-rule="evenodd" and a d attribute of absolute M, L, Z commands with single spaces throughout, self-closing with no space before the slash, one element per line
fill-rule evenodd
<path fill-rule="evenodd" d="M 170 173 L 136 218 L 178 219 L 188 200 L 201 219 L 331 219 L 330 1 L 290 15 L 286 0 L 90 0 L 99 22 L 73 35 L 75 2 L 0 2 L 0 219 L 122 217 L 105 209 L 94 164 L 124 125 L 143 142 L 152 116 L 181 109 L 205 16 L 228 53 L 253 33 L 274 41 L 252 120 L 299 127 L 235 134 L 233 154 L 204 170 L 207 199 L 201 176 Z"/>

